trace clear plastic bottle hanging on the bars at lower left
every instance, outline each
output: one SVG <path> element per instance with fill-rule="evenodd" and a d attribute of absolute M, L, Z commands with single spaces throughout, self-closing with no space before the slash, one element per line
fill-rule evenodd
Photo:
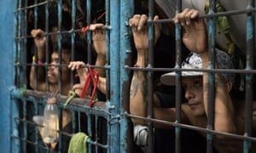
<path fill-rule="evenodd" d="M 45 144 L 56 143 L 59 139 L 59 116 L 55 98 L 47 100 L 44 107 L 43 141 Z"/>

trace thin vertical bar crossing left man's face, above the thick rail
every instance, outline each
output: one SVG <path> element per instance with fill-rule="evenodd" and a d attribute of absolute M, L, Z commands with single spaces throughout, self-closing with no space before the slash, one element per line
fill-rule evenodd
<path fill-rule="evenodd" d="M 62 0 L 58 1 L 58 56 L 59 59 L 62 59 L 62 47 L 61 47 L 61 21 L 62 21 Z M 61 66 L 62 66 L 62 61 L 59 60 L 59 63 L 57 64 L 58 66 L 58 93 L 61 94 L 61 88 L 62 88 L 62 83 L 61 83 L 61 77 L 62 77 L 62 71 L 61 71 Z"/>

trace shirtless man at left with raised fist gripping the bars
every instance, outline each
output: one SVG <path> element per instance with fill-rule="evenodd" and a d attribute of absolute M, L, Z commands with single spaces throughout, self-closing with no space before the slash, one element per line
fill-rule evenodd
<path fill-rule="evenodd" d="M 45 81 L 45 67 L 40 66 L 45 63 L 45 41 L 46 37 L 44 37 L 44 31 L 41 29 L 32 30 L 32 37 L 34 37 L 34 42 L 38 52 L 38 76 L 37 76 L 37 89 L 38 91 L 46 91 L 46 81 Z M 58 67 L 55 65 L 59 64 L 59 60 L 61 60 L 62 65 L 68 65 L 71 59 L 71 50 L 70 48 L 62 48 L 62 57 L 59 58 L 58 49 L 54 48 L 53 52 L 50 56 L 50 66 L 48 67 L 47 77 L 49 80 L 49 92 L 55 93 L 58 90 Z M 30 71 L 30 86 L 31 88 L 36 89 L 35 87 L 35 78 L 34 78 L 35 66 L 32 65 L 32 69 Z M 61 94 L 68 95 L 70 89 L 70 71 L 67 66 L 61 67 L 62 75 L 61 75 Z"/>

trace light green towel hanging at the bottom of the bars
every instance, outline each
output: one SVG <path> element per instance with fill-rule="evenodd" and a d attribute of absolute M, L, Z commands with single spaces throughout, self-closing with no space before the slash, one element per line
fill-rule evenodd
<path fill-rule="evenodd" d="M 75 133 L 69 142 L 68 153 L 87 153 L 87 139 L 85 133 Z"/>

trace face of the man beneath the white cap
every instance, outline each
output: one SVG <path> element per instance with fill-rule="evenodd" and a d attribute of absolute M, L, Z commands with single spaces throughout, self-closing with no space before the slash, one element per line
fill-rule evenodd
<path fill-rule="evenodd" d="M 194 116 L 205 115 L 206 111 L 203 104 L 202 77 L 183 77 L 183 88 L 185 98 Z"/>

